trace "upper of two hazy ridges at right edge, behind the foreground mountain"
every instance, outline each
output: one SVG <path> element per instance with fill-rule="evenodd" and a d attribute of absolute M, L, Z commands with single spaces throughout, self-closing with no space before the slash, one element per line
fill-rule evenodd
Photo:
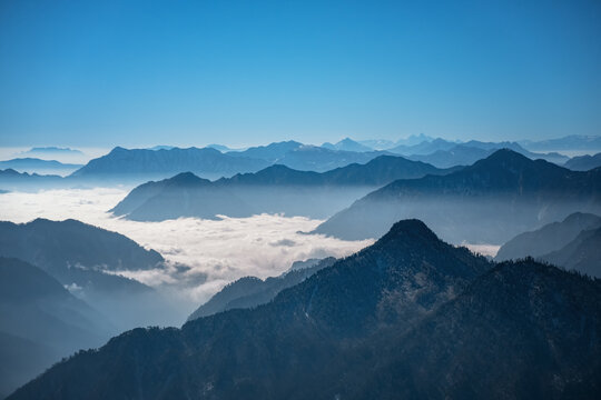
<path fill-rule="evenodd" d="M 555 250 L 560 250 L 582 231 L 600 228 L 601 217 L 574 212 L 561 222 L 545 224 L 541 229 L 525 232 L 503 244 L 496 253 L 495 260 L 505 261 L 525 257 L 539 258 Z M 563 266 L 560 263 L 560 266 Z"/>

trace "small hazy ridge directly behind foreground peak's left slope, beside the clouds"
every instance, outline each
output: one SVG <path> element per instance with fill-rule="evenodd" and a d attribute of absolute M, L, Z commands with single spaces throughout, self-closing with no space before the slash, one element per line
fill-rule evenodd
<path fill-rule="evenodd" d="M 295 262 L 289 271 L 265 280 L 255 277 L 244 277 L 213 296 L 206 303 L 194 311 L 188 321 L 213 316 L 231 309 L 247 309 L 272 301 L 282 290 L 300 283 L 315 272 L 331 267 L 335 258 Z"/>

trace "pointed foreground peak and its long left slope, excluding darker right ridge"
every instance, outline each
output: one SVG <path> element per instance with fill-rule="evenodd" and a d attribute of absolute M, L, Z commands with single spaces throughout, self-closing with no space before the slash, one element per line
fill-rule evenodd
<path fill-rule="evenodd" d="M 136 399 L 306 398 L 307 390 L 324 389 L 312 381 L 339 368 L 333 360 L 344 349 L 386 327 L 410 327 L 489 268 L 422 222 L 402 221 L 268 304 L 196 319 L 181 330 L 130 331 L 56 366 L 13 398 L 111 398 L 116 390 Z"/>

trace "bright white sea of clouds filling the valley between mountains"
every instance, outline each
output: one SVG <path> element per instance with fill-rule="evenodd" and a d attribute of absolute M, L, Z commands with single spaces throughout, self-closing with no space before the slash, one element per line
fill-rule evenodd
<path fill-rule="evenodd" d="M 373 242 L 304 234 L 302 232 L 313 230 L 322 221 L 303 217 L 260 214 L 224 217 L 216 221 L 185 218 L 162 222 L 114 218 L 107 210 L 117 204 L 128 189 L 0 194 L 0 219 L 28 222 L 39 217 L 51 220 L 72 218 L 122 233 L 146 248 L 155 249 L 169 261 L 167 269 L 122 274 L 177 298 L 178 302 L 189 307 L 189 311 L 237 278 L 276 276 L 296 260 L 343 257 Z M 178 263 L 190 269 L 178 269 Z"/>

